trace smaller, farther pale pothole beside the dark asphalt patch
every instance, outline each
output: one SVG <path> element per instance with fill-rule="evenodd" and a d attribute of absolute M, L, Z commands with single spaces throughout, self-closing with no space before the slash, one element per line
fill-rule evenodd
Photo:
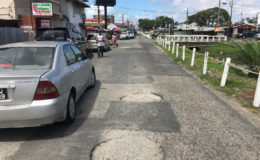
<path fill-rule="evenodd" d="M 124 102 L 159 102 L 162 100 L 162 96 L 155 93 L 147 94 L 132 94 L 120 98 Z"/>

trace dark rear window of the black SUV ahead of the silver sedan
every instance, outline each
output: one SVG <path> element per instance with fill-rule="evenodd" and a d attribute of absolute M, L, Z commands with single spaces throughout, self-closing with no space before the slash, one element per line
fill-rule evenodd
<path fill-rule="evenodd" d="M 36 35 L 37 41 L 67 41 L 66 30 L 39 30 Z"/>

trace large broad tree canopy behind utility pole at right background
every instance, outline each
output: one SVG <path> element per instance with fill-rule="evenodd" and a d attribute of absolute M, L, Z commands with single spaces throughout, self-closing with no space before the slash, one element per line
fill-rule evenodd
<path fill-rule="evenodd" d="M 188 17 L 188 23 L 197 23 L 199 26 L 215 26 L 218 23 L 219 8 L 210 8 Z M 230 15 L 225 9 L 220 9 L 220 25 L 230 24 Z"/>

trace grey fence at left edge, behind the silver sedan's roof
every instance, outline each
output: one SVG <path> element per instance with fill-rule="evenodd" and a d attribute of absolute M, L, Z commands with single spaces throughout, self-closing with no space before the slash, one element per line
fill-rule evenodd
<path fill-rule="evenodd" d="M 29 41 L 29 33 L 21 28 L 0 27 L 0 45 L 24 41 Z"/>

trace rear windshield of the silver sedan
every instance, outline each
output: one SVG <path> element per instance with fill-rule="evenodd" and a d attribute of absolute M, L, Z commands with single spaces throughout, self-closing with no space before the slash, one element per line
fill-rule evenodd
<path fill-rule="evenodd" d="M 55 48 L 19 47 L 0 50 L 0 70 L 50 69 Z"/>

